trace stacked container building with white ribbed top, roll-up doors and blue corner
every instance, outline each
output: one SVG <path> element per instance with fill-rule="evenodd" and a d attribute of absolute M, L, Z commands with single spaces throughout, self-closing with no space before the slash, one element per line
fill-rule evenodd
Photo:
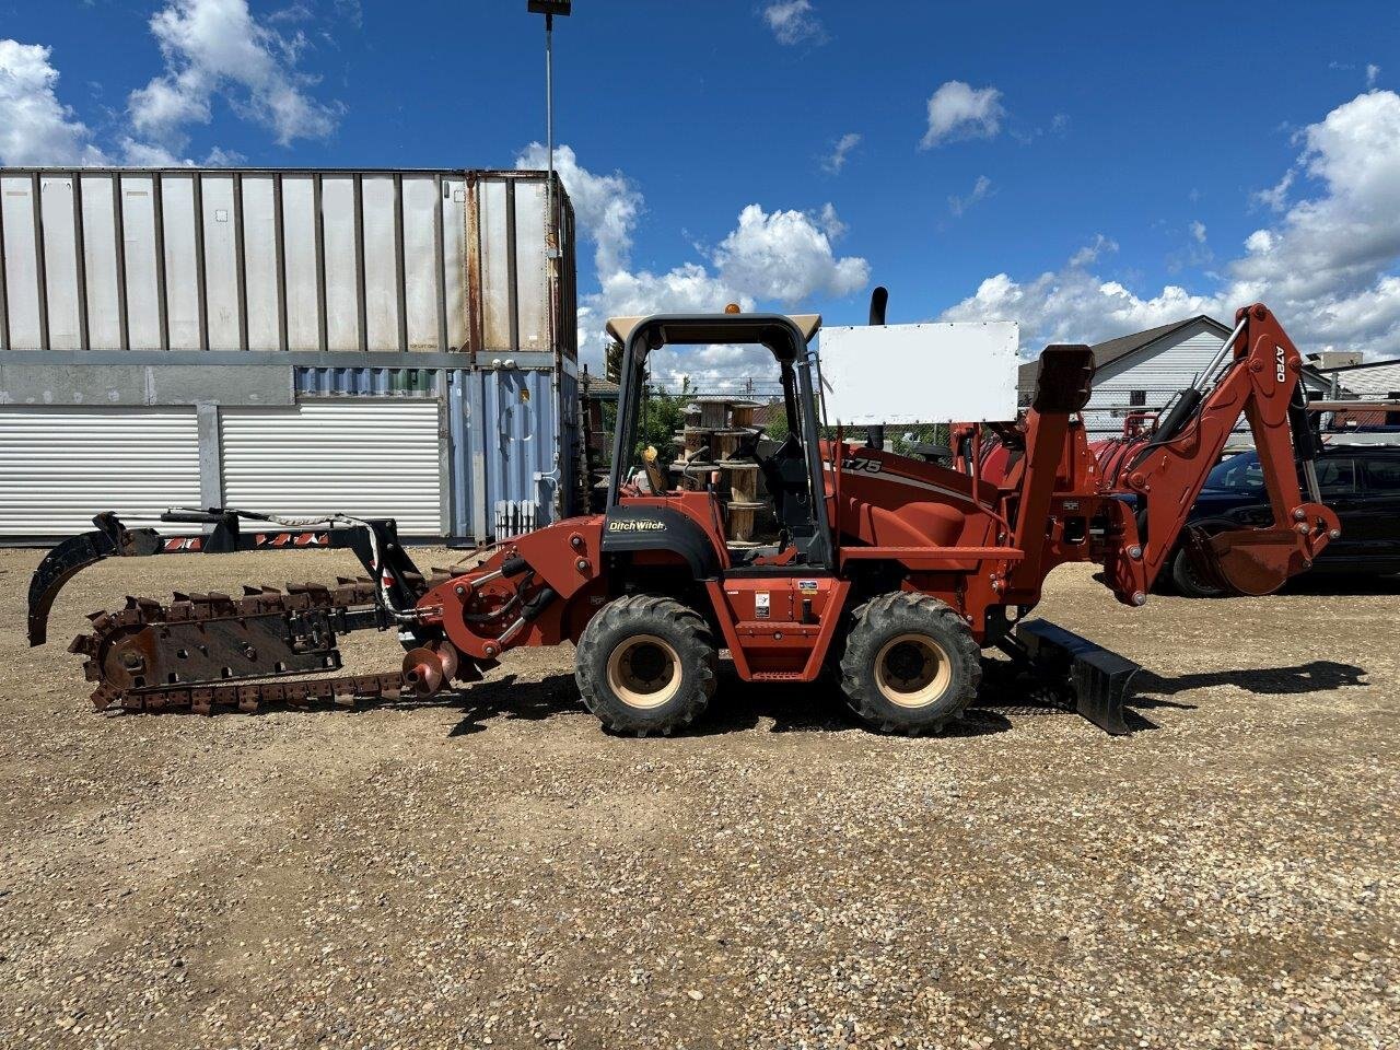
<path fill-rule="evenodd" d="M 410 477 L 413 535 L 557 519 L 575 295 L 573 209 L 543 172 L 0 168 L 0 539 L 127 494 L 147 517 L 234 496 L 384 514 Z M 143 473 L 146 434 L 197 477 Z"/>

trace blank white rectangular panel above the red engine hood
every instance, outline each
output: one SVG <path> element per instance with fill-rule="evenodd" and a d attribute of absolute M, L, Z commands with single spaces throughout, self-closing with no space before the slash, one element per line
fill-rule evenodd
<path fill-rule="evenodd" d="M 822 329 L 834 423 L 983 423 L 1016 417 L 1016 325 L 951 322 Z"/>

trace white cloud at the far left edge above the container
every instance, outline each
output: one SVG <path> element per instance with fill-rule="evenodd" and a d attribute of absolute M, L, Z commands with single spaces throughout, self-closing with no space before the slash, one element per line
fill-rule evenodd
<path fill-rule="evenodd" d="M 102 164 L 87 125 L 59 101 L 59 71 L 39 43 L 0 41 L 0 162 Z"/>

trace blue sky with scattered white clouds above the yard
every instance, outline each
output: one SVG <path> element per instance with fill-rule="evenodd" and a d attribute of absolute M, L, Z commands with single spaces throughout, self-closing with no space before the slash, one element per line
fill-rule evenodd
<path fill-rule="evenodd" d="M 525 0 L 0 0 L 0 160 L 514 167 L 542 36 Z M 1394 3 L 577 0 L 581 329 L 854 322 L 883 283 L 1025 350 L 1259 295 L 1306 350 L 1397 356 L 1397 81 Z"/>

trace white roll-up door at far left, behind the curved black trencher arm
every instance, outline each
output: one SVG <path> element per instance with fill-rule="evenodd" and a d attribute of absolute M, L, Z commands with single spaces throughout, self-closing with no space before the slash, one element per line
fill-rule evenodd
<path fill-rule="evenodd" d="M 197 505 L 195 409 L 0 405 L 0 535 L 85 532 L 99 511 L 158 525 Z"/>

